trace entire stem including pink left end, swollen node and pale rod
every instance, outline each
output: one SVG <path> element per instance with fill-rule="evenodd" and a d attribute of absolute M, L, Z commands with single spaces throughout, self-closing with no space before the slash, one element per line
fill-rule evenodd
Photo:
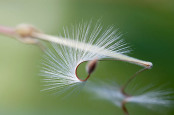
<path fill-rule="evenodd" d="M 25 37 L 31 37 L 34 39 L 38 38 L 40 40 L 51 41 L 51 42 L 65 45 L 68 47 L 73 47 L 73 48 L 77 48 L 80 50 L 89 51 L 92 53 L 105 55 L 105 56 L 108 56 L 108 57 L 111 57 L 114 59 L 118 59 L 118 60 L 126 61 L 129 63 L 137 64 L 137 65 L 143 66 L 143 67 L 148 68 L 148 69 L 150 69 L 152 67 L 151 62 L 139 60 L 139 59 L 136 59 L 133 57 L 129 57 L 129 56 L 126 56 L 126 55 L 121 54 L 121 53 L 115 53 L 115 52 L 112 52 L 110 50 L 100 48 L 98 46 L 91 45 L 88 43 L 82 43 L 79 41 L 74 41 L 74 40 L 70 40 L 70 39 L 66 39 L 66 38 L 55 37 L 55 36 L 43 34 L 43 33 L 40 33 L 39 31 L 37 31 L 37 29 L 35 29 L 29 25 L 22 26 L 18 29 L 19 29 L 19 33 L 16 32 L 16 29 L 5 27 L 5 26 L 0 26 L 0 33 L 4 34 L 4 35 L 11 36 L 11 37 L 25 36 Z"/>

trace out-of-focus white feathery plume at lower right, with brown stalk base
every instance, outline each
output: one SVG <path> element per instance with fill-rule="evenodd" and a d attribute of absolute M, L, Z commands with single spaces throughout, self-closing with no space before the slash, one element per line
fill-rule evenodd
<path fill-rule="evenodd" d="M 173 103 L 173 91 L 163 90 L 163 89 L 149 89 L 146 88 L 146 92 L 142 92 L 138 95 L 124 95 L 121 92 L 121 87 L 116 83 L 91 83 L 87 91 L 91 94 L 99 97 L 97 99 L 107 100 L 117 107 L 121 108 L 125 115 L 129 115 L 126 104 L 134 103 L 151 110 L 159 110 L 159 107 L 170 107 Z M 144 88 L 142 88 L 143 91 Z M 141 91 L 139 89 L 139 91 Z M 94 97 L 95 97 L 94 96 Z"/>

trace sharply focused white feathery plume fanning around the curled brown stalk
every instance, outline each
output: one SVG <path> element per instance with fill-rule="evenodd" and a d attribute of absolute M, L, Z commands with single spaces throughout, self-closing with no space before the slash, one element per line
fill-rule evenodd
<path fill-rule="evenodd" d="M 81 87 L 79 84 L 88 80 L 98 60 L 111 58 L 105 55 L 106 51 L 114 55 L 129 52 L 118 31 L 114 31 L 113 27 L 103 30 L 99 23 L 94 28 L 87 23 L 70 30 L 66 28 L 61 42 L 62 44 L 51 43 L 51 48 L 45 51 L 41 75 L 45 77 L 48 88 L 44 90 L 56 92 L 72 86 Z M 87 66 L 88 76 L 82 80 L 77 75 L 77 68 L 87 61 L 90 61 Z"/>

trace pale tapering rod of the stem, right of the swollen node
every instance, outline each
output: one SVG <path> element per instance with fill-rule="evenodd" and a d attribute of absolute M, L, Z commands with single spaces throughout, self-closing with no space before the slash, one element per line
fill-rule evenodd
<path fill-rule="evenodd" d="M 115 59 L 118 59 L 118 60 L 126 61 L 126 62 L 133 63 L 133 64 L 137 64 L 137 65 L 143 66 L 143 67 L 148 68 L 148 69 L 150 69 L 152 67 L 151 62 L 147 62 L 147 61 L 139 60 L 139 59 L 136 59 L 136 58 L 133 58 L 133 57 L 129 57 L 129 56 L 126 56 L 126 55 L 121 54 L 121 53 L 114 53 L 110 50 L 103 49 L 103 48 L 100 48 L 98 46 L 91 45 L 91 44 L 88 44 L 88 43 L 82 43 L 82 42 L 79 42 L 79 41 L 74 41 L 74 40 L 61 38 L 61 37 L 55 37 L 55 36 L 51 36 L 51 35 L 47 35 L 47 34 L 43 34 L 43 33 L 38 33 L 38 32 L 33 32 L 32 37 L 39 38 L 41 40 L 51 41 L 51 42 L 58 43 L 58 44 L 61 44 L 61 45 L 65 45 L 65 46 L 68 46 L 68 47 L 81 49 L 81 50 L 84 50 L 84 51 L 89 51 L 89 52 L 105 55 L 105 56 L 112 57 L 112 58 L 115 58 Z"/>

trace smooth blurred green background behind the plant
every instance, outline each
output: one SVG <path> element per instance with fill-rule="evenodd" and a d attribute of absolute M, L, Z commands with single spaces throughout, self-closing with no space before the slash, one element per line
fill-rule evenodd
<path fill-rule="evenodd" d="M 114 25 L 132 46 L 129 55 L 151 61 L 154 67 L 134 84 L 168 84 L 174 88 L 174 1 L 173 0 L 0 0 L 0 24 L 33 24 L 45 33 L 58 35 L 63 26 L 90 19 Z M 38 76 L 42 51 L 0 35 L 1 115 L 123 115 L 104 100 L 93 100 L 83 91 L 61 100 L 40 92 Z M 101 62 L 92 77 L 123 84 L 140 67 L 124 62 Z M 85 72 L 80 68 L 79 74 Z M 158 115 L 128 104 L 131 115 Z M 164 111 L 173 115 L 171 107 Z M 163 114 L 163 113 L 162 113 Z"/>

